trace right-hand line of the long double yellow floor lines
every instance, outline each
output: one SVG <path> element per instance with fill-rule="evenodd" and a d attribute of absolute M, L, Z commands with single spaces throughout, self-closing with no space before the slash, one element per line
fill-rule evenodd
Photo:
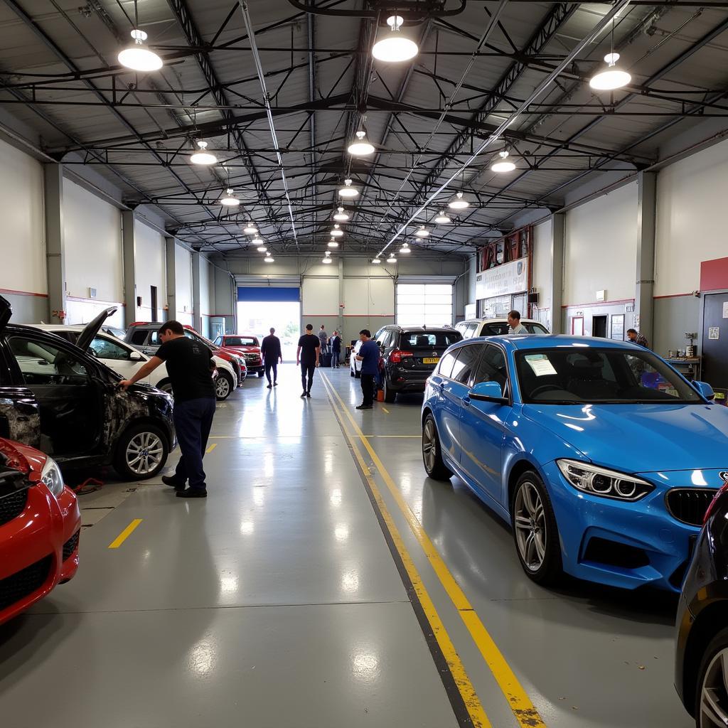
<path fill-rule="evenodd" d="M 545 728 L 545 723 L 534 707 L 534 704 L 531 703 L 531 699 L 528 695 L 526 695 L 526 691 L 521 686 L 521 683 L 518 681 L 515 673 L 511 670 L 510 665 L 507 663 L 505 657 L 503 657 L 503 654 L 498 649 L 493 638 L 491 638 L 488 630 L 485 628 L 485 625 L 483 625 L 483 622 L 480 621 L 480 617 L 478 617 L 478 614 L 476 614 L 475 610 L 472 608 L 472 604 L 470 604 L 470 601 L 468 601 L 463 590 L 460 588 L 460 585 L 456 582 L 451 571 L 448 569 L 446 563 L 438 553 L 438 550 L 435 549 L 432 541 L 430 541 L 430 537 L 422 527 L 422 523 L 417 520 L 416 515 L 412 513 L 407 502 L 405 502 L 400 489 L 397 488 L 395 481 L 392 480 L 392 476 L 389 475 L 387 468 L 384 467 L 384 463 L 381 462 L 368 438 L 366 438 L 360 430 L 356 420 L 352 417 L 352 414 L 344 404 L 344 400 L 339 397 L 339 392 L 336 392 L 336 389 L 331 387 L 331 383 L 328 382 L 324 374 L 322 374 L 322 376 L 329 384 L 334 397 L 339 400 L 341 410 L 344 414 L 346 414 L 349 422 L 351 422 L 352 429 L 359 436 L 366 448 L 366 451 L 371 456 L 374 466 L 377 470 L 379 470 L 382 480 L 384 480 L 387 488 L 389 488 L 389 492 L 394 497 L 395 502 L 397 502 L 397 506 L 399 506 L 400 511 L 403 513 L 411 531 L 422 546 L 428 561 L 430 561 L 432 569 L 434 569 L 435 574 L 438 575 L 440 583 L 451 598 L 451 601 L 458 610 L 467 630 L 470 632 L 470 636 L 478 646 L 480 654 L 488 664 L 488 668 L 490 668 L 494 678 L 496 678 L 496 682 L 502 690 L 503 695 L 505 695 L 518 724 L 523 728 Z"/>

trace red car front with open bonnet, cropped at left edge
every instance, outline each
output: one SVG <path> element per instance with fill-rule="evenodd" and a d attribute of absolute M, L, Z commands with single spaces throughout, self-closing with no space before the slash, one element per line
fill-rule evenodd
<path fill-rule="evenodd" d="M 0 624 L 79 568 L 81 513 L 51 457 L 0 438 Z"/>

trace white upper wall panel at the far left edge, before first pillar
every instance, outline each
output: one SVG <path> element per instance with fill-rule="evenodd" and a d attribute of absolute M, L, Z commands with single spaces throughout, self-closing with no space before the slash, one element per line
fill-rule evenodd
<path fill-rule="evenodd" d="M 0 289 L 46 296 L 43 167 L 0 141 Z"/>

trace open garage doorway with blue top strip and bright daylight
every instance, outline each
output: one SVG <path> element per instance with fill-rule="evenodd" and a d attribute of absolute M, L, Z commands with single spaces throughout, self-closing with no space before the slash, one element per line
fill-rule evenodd
<path fill-rule="evenodd" d="M 237 333 L 251 333 L 260 341 L 275 329 L 283 361 L 296 361 L 301 336 L 300 288 L 240 287 L 237 289 Z"/>

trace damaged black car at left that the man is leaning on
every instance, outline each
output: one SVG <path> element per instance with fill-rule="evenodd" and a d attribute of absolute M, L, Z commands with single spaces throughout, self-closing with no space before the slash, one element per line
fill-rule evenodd
<path fill-rule="evenodd" d="M 149 384 L 124 392 L 122 377 L 86 352 L 101 316 L 78 346 L 11 317 L 0 296 L 0 437 L 39 448 L 63 470 L 113 464 L 127 480 L 157 475 L 176 444 L 172 397 Z"/>

